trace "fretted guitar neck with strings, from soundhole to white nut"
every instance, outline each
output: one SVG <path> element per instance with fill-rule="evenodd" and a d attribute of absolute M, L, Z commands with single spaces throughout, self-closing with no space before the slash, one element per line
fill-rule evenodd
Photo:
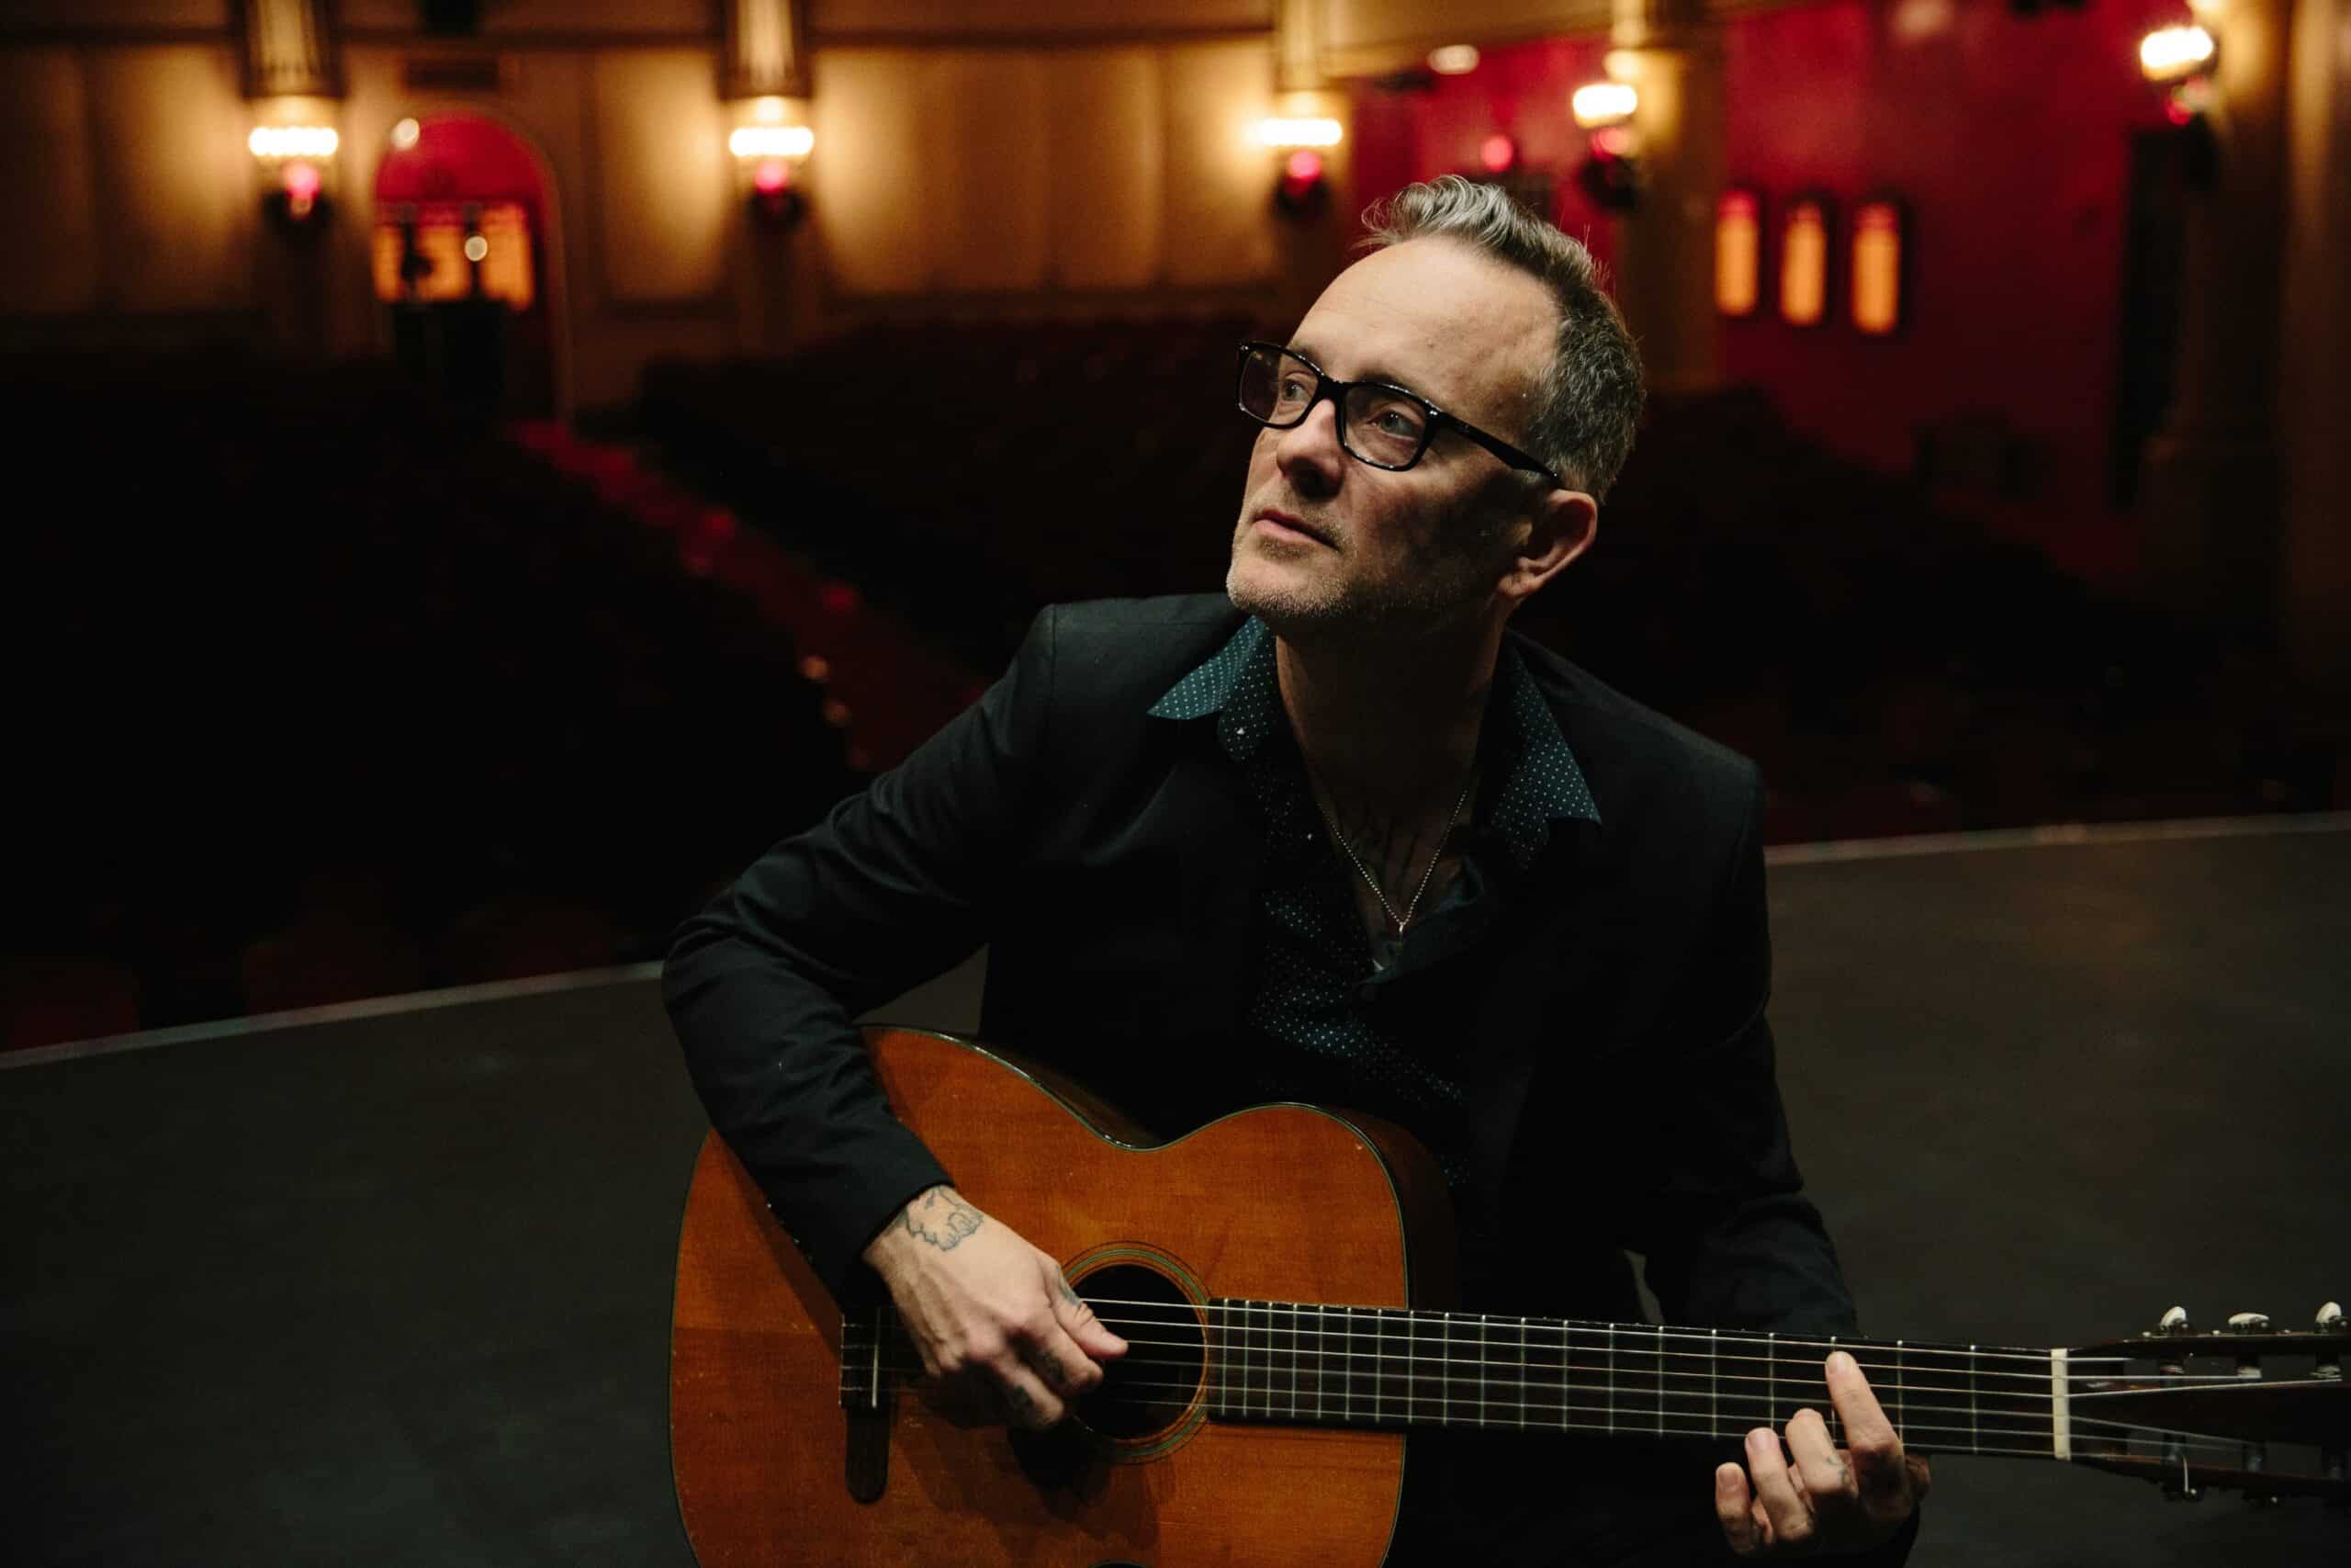
<path fill-rule="evenodd" d="M 1206 1319 L 1215 1420 L 1735 1439 L 1813 1408 L 1843 1441 L 1822 1368 L 1843 1349 L 1911 1453 L 2071 1458 L 2062 1349 L 1248 1300 Z"/>

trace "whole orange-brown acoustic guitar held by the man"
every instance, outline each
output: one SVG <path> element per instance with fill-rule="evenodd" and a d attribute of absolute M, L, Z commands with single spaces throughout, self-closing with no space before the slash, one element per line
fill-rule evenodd
<path fill-rule="evenodd" d="M 1411 1427 L 1719 1436 L 1829 1410 L 1848 1349 L 1914 1453 L 2057 1460 L 2177 1495 L 2351 1500 L 2351 1347 L 2182 1312 L 2074 1349 L 1432 1309 L 1444 1185 L 1399 1131 L 1267 1105 L 1154 1145 L 1051 1074 L 872 1032 L 959 1190 L 1128 1342 L 1051 1434 L 952 1425 L 889 1307 L 842 1312 L 712 1135 L 670 1340 L 677 1502 L 726 1563 L 1380 1563 Z M 1834 1429 L 1834 1420 L 1831 1420 Z"/>

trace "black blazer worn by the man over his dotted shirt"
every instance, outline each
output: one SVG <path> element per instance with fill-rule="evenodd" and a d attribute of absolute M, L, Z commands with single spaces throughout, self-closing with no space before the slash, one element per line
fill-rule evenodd
<path fill-rule="evenodd" d="M 851 1020 L 980 943 L 990 1044 L 1168 1135 L 1234 1107 L 1258 806 L 1211 722 L 1147 708 L 1237 628 L 1220 595 L 1044 611 L 980 703 L 677 933 L 694 1084 L 835 1293 L 950 1175 Z M 1756 769 L 1514 644 L 1601 825 L 1554 823 L 1483 938 L 1509 983 L 1462 1020 L 1472 1180 L 1526 1246 L 1465 1305 L 1636 1319 L 1629 1248 L 1669 1321 L 1853 1333 L 1773 1079 Z"/>

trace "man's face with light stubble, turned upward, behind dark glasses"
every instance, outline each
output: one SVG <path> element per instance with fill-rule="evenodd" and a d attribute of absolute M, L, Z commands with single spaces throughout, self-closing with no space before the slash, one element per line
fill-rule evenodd
<path fill-rule="evenodd" d="M 1291 348 L 1338 381 L 1387 381 L 1519 447 L 1559 334 L 1526 273 L 1408 240 L 1338 275 Z M 1225 590 L 1286 632 L 1413 635 L 1474 618 L 1526 531 L 1528 482 L 1455 430 L 1404 473 L 1340 449 L 1338 407 L 1260 430 Z"/>

